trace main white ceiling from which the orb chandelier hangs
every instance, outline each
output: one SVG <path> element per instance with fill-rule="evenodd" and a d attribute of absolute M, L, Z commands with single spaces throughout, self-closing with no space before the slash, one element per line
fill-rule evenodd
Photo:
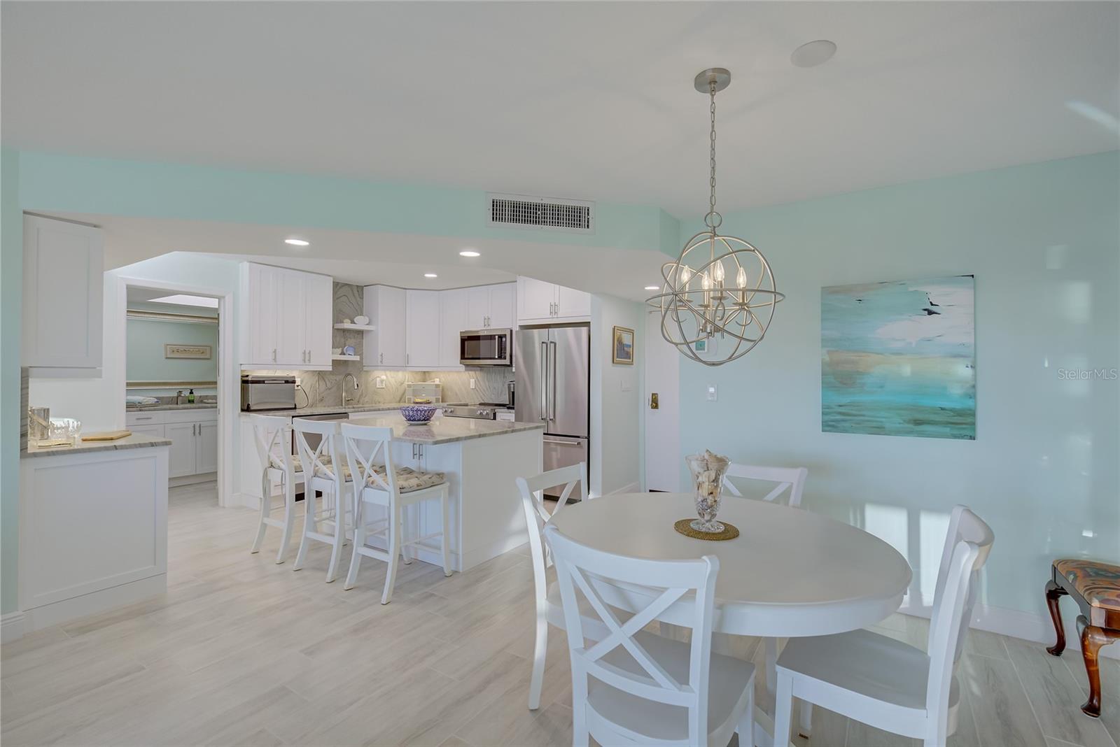
<path fill-rule="evenodd" d="M 11 2 L 17 148 L 743 208 L 1118 146 L 1116 2 Z M 799 45 L 839 45 L 819 68 Z"/>

